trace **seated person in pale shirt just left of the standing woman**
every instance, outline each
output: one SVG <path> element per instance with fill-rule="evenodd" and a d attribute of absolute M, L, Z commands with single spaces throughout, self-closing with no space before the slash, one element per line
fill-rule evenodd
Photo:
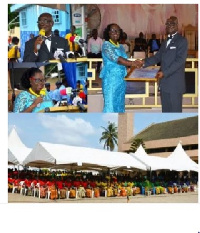
<path fill-rule="evenodd" d="M 88 58 L 102 58 L 101 50 L 102 50 L 103 40 L 98 37 L 97 29 L 92 30 L 92 37 L 88 40 Z M 97 62 L 97 73 L 100 72 L 101 62 Z"/>

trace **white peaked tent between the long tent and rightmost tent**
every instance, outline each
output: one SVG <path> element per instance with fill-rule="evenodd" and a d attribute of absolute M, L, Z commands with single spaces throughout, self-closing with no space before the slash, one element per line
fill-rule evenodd
<path fill-rule="evenodd" d="M 146 168 L 151 171 L 155 170 L 172 170 L 172 166 L 168 162 L 167 158 L 160 158 L 157 156 L 149 156 L 142 145 L 140 145 L 135 153 L 130 153 L 130 155 L 146 165 Z"/>

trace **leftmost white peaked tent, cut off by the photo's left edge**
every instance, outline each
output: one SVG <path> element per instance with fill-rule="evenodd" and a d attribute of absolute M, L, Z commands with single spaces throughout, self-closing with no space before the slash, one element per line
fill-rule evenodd
<path fill-rule="evenodd" d="M 17 159 L 18 164 L 22 164 L 23 160 L 31 152 L 31 150 L 31 148 L 28 148 L 24 145 L 24 143 L 19 138 L 15 127 L 13 127 L 8 136 L 8 156 L 9 153 L 12 153 L 12 155 Z"/>

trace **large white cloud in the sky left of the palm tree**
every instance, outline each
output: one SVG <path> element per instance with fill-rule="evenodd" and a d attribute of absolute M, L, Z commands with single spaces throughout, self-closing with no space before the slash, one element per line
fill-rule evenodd
<path fill-rule="evenodd" d="M 49 130 L 55 143 L 84 146 L 88 144 L 89 138 L 95 134 L 95 129 L 91 123 L 78 117 L 70 119 L 61 114 L 57 116 L 42 114 L 39 119 L 42 126 Z"/>

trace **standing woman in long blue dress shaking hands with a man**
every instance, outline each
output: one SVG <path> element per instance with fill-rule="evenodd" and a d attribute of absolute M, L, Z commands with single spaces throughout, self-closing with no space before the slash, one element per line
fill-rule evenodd
<path fill-rule="evenodd" d="M 124 47 L 118 42 L 122 35 L 123 31 L 117 24 L 109 24 L 104 31 L 103 68 L 100 73 L 104 98 L 103 112 L 125 112 L 126 67 L 140 65 L 137 61 L 127 60 Z"/>

